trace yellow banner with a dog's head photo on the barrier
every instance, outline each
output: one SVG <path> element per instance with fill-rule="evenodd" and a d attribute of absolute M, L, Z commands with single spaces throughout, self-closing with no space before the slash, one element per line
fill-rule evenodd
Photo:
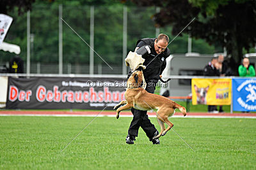
<path fill-rule="evenodd" d="M 191 82 L 192 104 L 230 105 L 232 80 L 193 78 Z"/>

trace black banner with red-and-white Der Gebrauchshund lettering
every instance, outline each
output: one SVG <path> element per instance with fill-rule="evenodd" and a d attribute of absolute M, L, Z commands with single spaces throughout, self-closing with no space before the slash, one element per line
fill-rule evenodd
<path fill-rule="evenodd" d="M 8 109 L 106 110 L 125 100 L 125 78 L 8 78 Z"/>

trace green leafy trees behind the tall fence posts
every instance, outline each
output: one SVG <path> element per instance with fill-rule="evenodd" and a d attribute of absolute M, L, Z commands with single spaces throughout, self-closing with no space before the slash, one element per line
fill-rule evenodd
<path fill-rule="evenodd" d="M 99 5 L 100 2 L 100 5 Z M 119 68 L 124 62 L 122 60 L 123 41 L 123 6 L 120 1 L 109 0 L 76 0 L 76 1 L 39 1 L 33 3 L 30 13 L 31 22 L 31 70 L 35 73 L 36 63 L 55 64 L 59 60 L 59 5 L 63 3 L 63 19 L 86 41 L 90 43 L 90 6 L 94 5 L 94 49 L 111 66 Z M 134 50 L 136 41 L 140 38 L 154 38 L 156 28 L 152 15 L 156 12 L 154 7 L 141 8 L 134 6 L 134 3 L 127 5 L 127 52 Z M 22 8 L 23 9 L 23 8 Z M 4 41 L 19 45 L 21 48 L 20 57 L 26 61 L 27 55 L 27 16 L 26 10 L 19 14 L 19 7 L 8 10 L 7 14 L 13 17 L 12 25 L 6 34 Z M 189 22 L 189 21 L 188 21 Z M 187 24 L 184 22 L 184 24 Z M 161 32 L 173 39 L 171 32 L 175 27 L 167 26 L 161 28 Z M 187 52 L 188 34 L 178 37 L 170 46 L 172 53 Z M 216 52 L 214 46 L 209 46 L 203 39 L 193 40 L 194 52 L 213 53 Z M 219 50 L 220 51 L 220 50 Z M 218 52 L 219 52 L 218 51 Z M 0 50 L 0 66 L 13 57 L 13 53 Z M 104 62 L 94 53 L 94 64 L 97 69 L 98 64 Z M 63 63 L 83 65 L 83 73 L 88 73 L 90 61 L 90 48 L 80 39 L 67 24 L 63 22 Z M 106 66 L 108 71 L 109 67 Z M 56 69 L 57 70 L 57 69 Z M 65 69 L 63 69 L 65 70 Z M 78 69 L 77 69 L 78 70 Z M 116 74 L 122 73 L 122 69 L 114 69 Z M 49 72 L 47 72 L 49 73 Z M 79 72 L 77 72 L 79 73 Z M 81 72 L 82 73 L 82 72 Z M 114 74 L 114 72 L 112 72 Z"/>

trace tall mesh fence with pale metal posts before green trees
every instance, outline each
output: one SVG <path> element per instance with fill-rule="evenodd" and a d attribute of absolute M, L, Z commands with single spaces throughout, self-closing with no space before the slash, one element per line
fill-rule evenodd
<path fill-rule="evenodd" d="M 33 6 L 24 15 L 18 15 L 17 11 L 8 14 L 13 17 L 13 23 L 5 41 L 20 45 L 26 73 L 126 74 L 124 58 L 134 50 L 138 39 L 154 38 L 159 32 L 170 39 L 175 37 L 171 34 L 172 27 L 155 27 L 152 16 L 156 11 L 159 8 L 121 4 Z M 205 44 L 201 39 L 193 40 L 193 45 L 198 42 Z M 191 52 L 188 35 L 175 39 L 170 48 L 172 53 Z M 192 46 L 193 52 L 200 52 L 196 49 Z M 209 45 L 204 49 L 214 53 Z M 108 67 L 98 54 L 115 69 Z M 13 56 L 0 51 L 0 66 Z"/>

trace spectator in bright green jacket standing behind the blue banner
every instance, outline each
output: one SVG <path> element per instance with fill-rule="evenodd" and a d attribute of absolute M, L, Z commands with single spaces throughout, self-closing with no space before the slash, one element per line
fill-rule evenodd
<path fill-rule="evenodd" d="M 238 67 L 239 76 L 252 77 L 255 76 L 255 69 L 250 65 L 250 60 L 244 58 L 242 64 Z"/>

